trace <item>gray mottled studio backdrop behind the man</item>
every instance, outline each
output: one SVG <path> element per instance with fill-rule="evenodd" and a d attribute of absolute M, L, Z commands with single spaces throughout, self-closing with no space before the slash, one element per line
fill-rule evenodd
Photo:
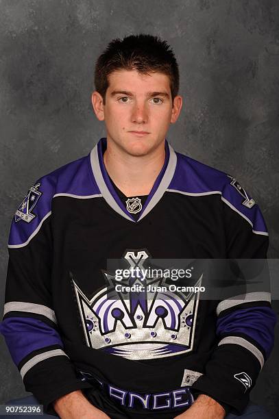
<path fill-rule="evenodd" d="M 180 64 L 184 109 L 169 141 L 243 183 L 279 256 L 278 0 L 0 0 L 1 307 L 12 214 L 38 177 L 104 136 L 90 105 L 95 60 L 140 31 L 167 39 Z M 3 338 L 0 354 L 3 402 L 25 391 Z M 276 414 L 278 389 L 274 351 L 252 399 Z"/>

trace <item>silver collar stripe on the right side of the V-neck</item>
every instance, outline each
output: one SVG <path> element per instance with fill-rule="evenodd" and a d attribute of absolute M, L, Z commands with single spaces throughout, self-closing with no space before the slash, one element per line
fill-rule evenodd
<path fill-rule="evenodd" d="M 145 207 L 145 210 L 143 211 L 141 216 L 138 218 L 138 221 L 142 220 L 143 217 L 145 217 L 155 207 L 155 205 L 160 201 L 163 194 L 165 193 L 167 187 L 169 186 L 169 183 L 171 183 L 171 179 L 173 178 L 173 175 L 175 172 L 178 157 L 176 157 L 175 151 L 173 150 L 171 145 L 168 144 L 168 146 L 169 146 L 169 162 L 167 164 L 167 168 L 162 177 L 162 180 L 160 181 L 160 185 L 158 186 L 156 192 L 154 193 L 151 200 L 147 204 L 147 207 Z"/>

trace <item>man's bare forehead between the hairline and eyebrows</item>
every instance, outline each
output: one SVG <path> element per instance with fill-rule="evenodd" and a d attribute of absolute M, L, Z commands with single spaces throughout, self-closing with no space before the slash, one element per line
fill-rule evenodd
<path fill-rule="evenodd" d="M 169 76 L 162 73 L 141 74 L 136 70 L 117 70 L 108 75 L 108 90 L 171 90 Z"/>

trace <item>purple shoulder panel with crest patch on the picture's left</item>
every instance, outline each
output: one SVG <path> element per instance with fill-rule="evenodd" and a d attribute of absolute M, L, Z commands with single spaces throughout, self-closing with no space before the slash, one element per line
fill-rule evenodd
<path fill-rule="evenodd" d="M 90 170 L 90 155 L 41 177 L 29 188 L 14 214 L 8 246 L 25 246 L 31 240 L 43 221 L 51 214 L 53 196 L 90 196 L 99 193 Z"/>

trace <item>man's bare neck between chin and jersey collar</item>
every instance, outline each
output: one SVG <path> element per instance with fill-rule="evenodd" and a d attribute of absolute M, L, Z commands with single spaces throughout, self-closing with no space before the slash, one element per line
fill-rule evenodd
<path fill-rule="evenodd" d="M 108 175 L 126 196 L 147 195 L 165 162 L 165 142 L 147 155 L 134 156 L 108 140 L 104 164 Z"/>

